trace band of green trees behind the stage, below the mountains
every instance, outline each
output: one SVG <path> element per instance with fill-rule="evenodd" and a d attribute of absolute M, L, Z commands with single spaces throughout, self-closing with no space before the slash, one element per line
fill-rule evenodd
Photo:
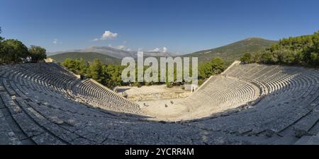
<path fill-rule="evenodd" d="M 104 86 L 107 86 L 108 88 L 114 88 L 116 86 L 150 86 L 150 85 L 159 85 L 159 84 L 166 84 L 167 87 L 172 87 L 172 86 L 182 86 L 185 83 L 184 81 L 175 82 L 175 83 L 169 83 L 167 81 L 165 83 L 161 83 L 161 82 L 123 83 L 121 79 L 121 73 L 123 69 L 125 69 L 125 66 L 103 64 L 99 59 L 94 59 L 94 61 L 91 63 L 86 62 L 84 59 L 66 59 L 61 64 L 67 67 L 67 69 L 69 69 L 70 71 L 80 74 L 86 78 L 93 78 L 94 80 L 98 81 Z M 145 66 L 144 70 L 146 69 L 148 69 L 147 66 Z M 223 61 L 223 59 L 220 59 L 218 57 L 213 58 L 209 62 L 200 64 L 198 66 L 198 84 L 203 83 L 203 81 L 206 78 L 212 75 L 221 73 L 224 69 L 225 69 L 225 62 Z M 138 71 L 136 70 L 135 72 L 137 73 Z M 191 73 L 191 69 L 190 69 L 190 73 Z M 160 73 L 158 74 L 158 78 L 160 78 Z M 175 70 L 174 79 L 176 80 L 176 78 L 177 78 L 177 71 Z"/>

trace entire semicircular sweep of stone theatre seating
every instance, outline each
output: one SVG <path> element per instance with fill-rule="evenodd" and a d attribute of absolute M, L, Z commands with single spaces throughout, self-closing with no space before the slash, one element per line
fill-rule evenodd
<path fill-rule="evenodd" d="M 40 75 L 26 71 L 28 66 L 37 68 L 36 64 L 21 66 L 0 66 L 0 143 L 309 144 L 318 140 L 317 69 L 235 65 L 222 76 L 211 77 L 187 98 L 184 106 L 189 107 L 189 116 L 181 117 L 228 112 L 252 100 L 249 109 L 179 124 L 149 122 L 142 116 L 90 107 L 74 98 L 81 95 L 90 105 L 108 107 L 96 100 L 103 94 L 110 97 L 96 83 L 68 80 L 74 78 L 72 73 L 52 65 L 46 65 L 47 69 L 63 80 L 42 71 Z"/>

